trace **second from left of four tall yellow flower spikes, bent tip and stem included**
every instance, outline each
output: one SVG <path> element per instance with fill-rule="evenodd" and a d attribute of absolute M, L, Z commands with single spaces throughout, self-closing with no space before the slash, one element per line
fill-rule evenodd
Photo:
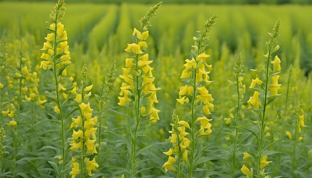
<path fill-rule="evenodd" d="M 134 133 L 132 134 L 132 165 L 131 165 L 131 177 L 136 176 L 136 144 L 137 144 L 137 133 L 144 116 L 149 116 L 149 123 L 155 123 L 159 117 L 158 109 L 154 107 L 154 103 L 157 103 L 156 88 L 154 85 L 155 77 L 153 77 L 150 64 L 153 61 L 149 60 L 149 54 L 145 54 L 148 48 L 146 42 L 149 37 L 148 26 L 150 25 L 150 18 L 156 16 L 156 10 L 160 7 L 162 2 L 154 5 L 144 17 L 141 18 L 140 29 L 134 28 L 133 35 L 136 36 L 136 42 L 128 44 L 125 49 L 130 54 L 130 58 L 126 59 L 126 66 L 123 68 L 124 74 L 120 76 L 124 80 L 121 87 L 121 92 L 118 97 L 119 105 L 124 106 L 126 103 L 134 101 L 135 102 L 135 122 L 134 122 Z M 146 102 L 143 100 L 147 99 Z"/>

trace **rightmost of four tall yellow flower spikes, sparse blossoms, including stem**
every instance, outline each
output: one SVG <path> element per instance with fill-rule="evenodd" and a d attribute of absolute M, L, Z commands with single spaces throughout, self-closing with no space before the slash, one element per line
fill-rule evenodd
<path fill-rule="evenodd" d="M 264 66 L 262 69 L 253 70 L 253 71 L 263 71 L 264 76 L 256 77 L 253 79 L 250 84 L 250 89 L 254 90 L 253 96 L 249 98 L 247 103 L 249 104 L 249 108 L 253 107 L 254 111 L 258 112 L 260 118 L 259 127 L 259 135 L 257 135 L 258 141 L 258 157 L 256 158 L 256 166 L 257 166 L 257 176 L 264 176 L 261 171 L 263 168 L 269 165 L 272 161 L 267 161 L 268 156 L 263 155 L 263 152 L 267 149 L 264 145 L 264 137 L 270 135 L 269 127 L 266 126 L 267 117 L 266 111 L 269 104 L 273 103 L 273 101 L 281 94 L 278 94 L 278 89 L 280 89 L 281 84 L 278 84 L 279 73 L 281 72 L 281 60 L 276 55 L 272 58 L 276 51 L 279 50 L 280 46 L 277 44 L 277 37 L 279 36 L 280 31 L 280 20 L 278 20 L 273 28 L 273 34 L 269 33 L 270 39 L 267 42 L 268 52 L 265 56 Z M 273 60 L 272 60 L 273 59 Z M 273 69 L 272 69 L 273 67 Z M 272 85 L 269 85 L 269 82 L 272 81 Z M 250 176 L 250 175 L 247 175 Z"/>

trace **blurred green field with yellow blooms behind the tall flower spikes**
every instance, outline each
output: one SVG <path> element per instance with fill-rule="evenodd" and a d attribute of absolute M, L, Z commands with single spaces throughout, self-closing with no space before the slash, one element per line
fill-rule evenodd
<path fill-rule="evenodd" d="M 0 69 L 0 84 L 4 86 L 0 89 L 0 106 L 1 111 L 12 109 L 12 105 L 15 107 L 13 117 L 3 112 L 0 115 L 0 126 L 6 133 L 6 137 L 0 139 L 0 177 L 70 177 L 70 160 L 76 154 L 69 150 L 73 140 L 71 117 L 81 114 L 77 102 L 74 101 L 75 95 L 70 93 L 75 86 L 73 82 L 81 86 L 80 81 L 84 80 L 80 75 L 84 64 L 90 73 L 88 83 L 93 84 L 92 95 L 89 98 L 91 108 L 94 109 L 93 116 L 97 115 L 102 119 L 100 123 L 98 121 L 94 125 L 97 128 L 97 136 L 99 128 L 102 130 L 95 146 L 98 154 L 86 156 L 90 160 L 93 157 L 97 159 L 99 167 L 96 168 L 97 171 L 93 171 L 95 173 L 93 177 L 132 176 L 132 134 L 136 124 L 134 119 L 138 114 L 135 112 L 135 102 L 128 103 L 126 106 L 117 104 L 120 88 L 124 82 L 124 79 L 118 76 L 123 75 L 125 59 L 130 56 L 124 49 L 127 48 L 127 44 L 134 43 L 136 40 L 132 35 L 133 30 L 135 27 L 139 29 L 139 20 L 152 5 L 66 3 L 66 13 L 61 22 L 67 32 L 72 63 L 66 67 L 67 75 L 64 75 L 61 81 L 66 89 L 56 92 L 53 73 L 39 69 L 42 61 L 40 49 L 46 42 L 44 37 L 51 33 L 50 30 L 45 29 L 50 26 L 46 21 L 50 21 L 49 13 L 55 3 L 0 2 L 0 33 L 4 31 L 3 36 L 6 38 L 5 43 L 2 37 L 0 45 L 0 65 L 3 66 Z M 192 176 L 194 178 L 246 178 L 246 175 L 241 172 L 242 166 L 246 165 L 254 170 L 253 178 L 278 176 L 310 178 L 312 174 L 312 6 L 166 4 L 164 1 L 156 14 L 157 16 L 150 20 L 152 26 L 148 26 L 146 52 L 150 60 L 153 60 L 150 65 L 155 77 L 154 84 L 161 88 L 157 90 L 159 102 L 155 103 L 156 108 L 160 110 L 158 113 L 160 119 L 150 124 L 147 122 L 149 120 L 146 119 L 147 116 L 142 116 L 144 121 L 139 127 L 139 136 L 136 138 L 138 139 L 136 177 L 177 177 L 175 172 L 165 172 L 162 168 L 168 160 L 168 156 L 162 152 L 167 152 L 172 145 L 166 139 L 170 136 L 168 131 L 171 130 L 171 115 L 174 109 L 180 120 L 189 122 L 191 127 L 193 125 L 191 119 L 193 114 L 190 114 L 192 108 L 187 107 L 186 104 L 181 105 L 176 100 L 179 98 L 180 87 L 185 86 L 180 76 L 185 68 L 184 60 L 198 55 L 192 54 L 191 51 L 191 46 L 194 45 L 193 36 L 198 37 L 196 31 L 202 29 L 206 19 L 216 14 L 219 17 L 208 33 L 208 46 L 204 50 L 210 55 L 207 63 L 213 66 L 209 77 L 210 81 L 214 82 L 208 85 L 207 89 L 214 98 L 214 111 L 211 111 L 212 114 L 205 113 L 208 115 L 207 118 L 213 119 L 210 121 L 212 133 L 197 139 L 198 150 L 195 153 L 197 157 L 194 156 L 196 161 Z M 263 106 L 262 111 L 261 106 L 258 111 L 248 109 L 247 101 L 254 94 L 254 90 L 249 88 L 251 81 L 256 78 L 256 75 L 261 80 L 265 78 L 265 74 L 250 69 L 261 69 L 266 64 L 267 58 L 264 55 L 268 50 L 266 45 L 270 38 L 268 32 L 272 33 L 274 24 L 279 19 L 281 35 L 277 37 L 278 42 L 274 44 L 275 46 L 279 44 L 280 48 L 274 56 L 277 55 L 281 59 L 282 70 L 281 73 L 275 74 L 272 71 L 272 76 L 280 76 L 279 84 L 282 86 L 278 93 L 281 95 L 276 99 L 275 96 L 270 96 L 268 100 L 274 98 L 274 102 L 267 107 Z M 4 52 L 4 49 L 7 51 Z M 235 87 L 230 81 L 236 80 L 233 68 L 238 56 L 241 57 L 242 70 L 246 74 L 242 82 L 246 86 L 246 92 L 240 95 L 240 107 L 238 114 L 235 115 L 237 96 Z M 116 61 L 116 72 L 115 75 L 110 75 L 113 74 L 110 69 L 115 68 L 111 67 L 114 61 Z M 25 101 L 21 88 L 28 85 L 29 89 L 25 92 L 27 96 L 34 84 L 31 82 L 28 84 L 26 76 L 19 78 L 15 75 L 16 72 L 21 71 L 21 67 L 16 64 L 28 66 L 29 73 L 30 71 L 37 73 L 40 82 L 37 82 L 35 87 L 38 93 L 43 93 L 44 96 L 34 93 L 36 98 L 47 99 L 46 103 L 37 104 L 33 99 L 30 102 Z M 23 77 L 25 83 L 21 82 Z M 104 79 L 106 82 L 103 87 L 101 81 Z M 261 91 L 264 85 L 265 83 L 257 85 L 256 88 L 259 87 Z M 269 86 L 266 88 L 269 89 Z M 103 89 L 106 92 L 105 97 L 100 97 Z M 60 93 L 66 95 L 61 97 L 64 101 L 61 104 L 61 111 L 66 117 L 68 116 L 68 119 L 64 120 L 61 120 L 55 110 L 56 102 L 53 102 L 53 99 L 58 99 Z M 266 96 L 262 96 L 264 93 L 267 94 L 261 92 L 261 98 L 267 99 Z M 149 95 L 147 94 L 146 97 Z M 146 104 L 145 100 L 143 104 Z M 263 108 L 267 109 L 265 116 L 261 114 L 266 110 Z M 198 115 L 203 114 L 200 109 L 196 108 L 194 112 Z M 304 128 L 301 127 L 299 119 L 303 114 Z M 259 115 L 260 118 L 266 119 L 266 123 L 262 126 Z M 17 126 L 6 124 L 11 120 L 17 121 Z M 259 122 L 264 130 L 261 133 L 257 130 Z M 235 125 L 237 123 L 238 125 Z M 64 143 L 61 140 L 61 125 L 65 131 Z M 236 129 L 237 127 L 239 129 Z M 190 130 L 188 131 L 191 133 Z M 286 131 L 292 133 L 292 139 L 285 134 Z M 237 135 L 237 142 L 234 142 L 235 135 Z M 260 155 L 267 155 L 268 161 L 273 161 L 265 167 L 263 174 L 256 164 L 261 147 L 257 142 L 258 137 L 263 138 L 261 144 L 265 148 Z M 2 149 L 1 144 L 5 148 Z M 236 151 L 233 151 L 233 148 Z M 63 149 L 66 150 L 65 164 L 62 159 Z M 187 149 L 191 150 L 191 148 Z M 243 159 L 244 152 L 249 153 L 251 157 Z M 235 153 L 234 167 L 233 153 Z M 58 157 L 61 159 L 59 160 Z M 180 178 L 190 176 L 188 172 L 190 158 L 189 154 L 189 160 L 181 163 Z M 174 168 L 177 169 L 176 165 Z M 80 177 L 89 176 L 84 172 L 84 175 L 79 175 Z"/>

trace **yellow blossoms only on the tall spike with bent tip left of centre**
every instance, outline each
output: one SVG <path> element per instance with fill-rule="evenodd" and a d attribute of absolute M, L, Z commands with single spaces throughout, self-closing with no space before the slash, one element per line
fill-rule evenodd
<path fill-rule="evenodd" d="M 123 68 L 124 74 L 119 76 L 124 80 L 122 87 L 120 88 L 120 95 L 118 96 L 118 104 L 121 106 L 126 105 L 127 102 L 132 101 L 129 97 L 134 93 L 139 93 L 141 91 L 147 96 L 148 99 L 148 110 L 145 107 L 142 107 L 141 113 L 143 115 L 149 115 L 149 123 L 155 123 L 159 117 L 159 110 L 154 107 L 154 103 L 157 103 L 156 91 L 159 88 L 155 87 L 152 70 L 150 64 L 153 62 L 149 60 L 149 54 L 144 54 L 144 50 L 148 47 L 146 39 L 149 36 L 149 31 L 140 32 L 134 28 L 133 35 L 136 35 L 136 43 L 128 44 L 128 47 L 125 49 L 128 53 L 135 54 L 131 58 L 127 58 L 125 68 Z M 140 96 L 141 97 L 141 96 Z"/>

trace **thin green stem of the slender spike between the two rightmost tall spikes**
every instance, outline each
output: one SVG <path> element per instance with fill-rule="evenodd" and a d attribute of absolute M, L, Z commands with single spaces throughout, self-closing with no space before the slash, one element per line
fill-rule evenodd
<path fill-rule="evenodd" d="M 239 68 L 237 69 L 240 70 Z M 239 94 L 239 75 L 236 76 L 236 84 L 237 84 L 237 108 L 236 108 L 236 118 L 235 118 L 235 136 L 234 136 L 234 150 L 233 150 L 233 167 L 232 167 L 232 178 L 235 178 L 235 161 L 236 161 L 236 143 L 237 143 L 237 133 L 238 133 L 238 115 L 239 115 L 239 103 L 240 103 L 240 94 Z"/>

